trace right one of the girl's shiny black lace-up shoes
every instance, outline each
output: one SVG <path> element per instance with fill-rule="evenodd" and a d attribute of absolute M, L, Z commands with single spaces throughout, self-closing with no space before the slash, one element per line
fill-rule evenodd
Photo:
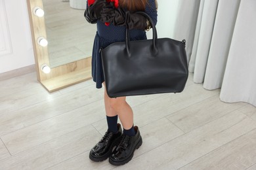
<path fill-rule="evenodd" d="M 135 149 L 138 149 L 142 144 L 142 138 L 140 136 L 140 131 L 137 126 L 134 127 L 136 135 L 128 136 L 123 134 L 121 140 L 117 147 L 112 152 L 110 156 L 110 163 L 112 165 L 123 165 L 133 158 L 133 153 Z"/>

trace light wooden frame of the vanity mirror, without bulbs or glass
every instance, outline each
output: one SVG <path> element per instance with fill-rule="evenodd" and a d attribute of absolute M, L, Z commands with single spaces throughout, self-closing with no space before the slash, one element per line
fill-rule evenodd
<path fill-rule="evenodd" d="M 65 65 L 51 68 L 49 74 L 43 73 L 41 66 L 49 63 L 48 48 L 37 43 L 39 37 L 47 39 L 45 29 L 45 18 L 33 14 L 33 9 L 39 7 L 43 9 L 42 0 L 27 0 L 28 14 L 30 17 L 30 28 L 32 32 L 33 52 L 35 56 L 35 69 L 37 80 L 49 91 L 54 92 L 66 88 L 73 84 L 91 79 L 91 57 L 79 59 Z"/>

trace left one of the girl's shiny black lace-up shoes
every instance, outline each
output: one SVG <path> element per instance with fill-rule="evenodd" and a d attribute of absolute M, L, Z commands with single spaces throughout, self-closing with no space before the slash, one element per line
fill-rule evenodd
<path fill-rule="evenodd" d="M 117 124 L 117 133 L 106 131 L 102 139 L 91 149 L 89 158 L 93 161 L 104 161 L 108 158 L 114 146 L 120 141 L 122 129 L 121 125 Z"/>

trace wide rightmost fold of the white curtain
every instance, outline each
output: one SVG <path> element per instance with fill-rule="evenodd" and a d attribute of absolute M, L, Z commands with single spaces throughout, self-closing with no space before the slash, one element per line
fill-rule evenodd
<path fill-rule="evenodd" d="M 242 0 L 228 54 L 220 98 L 256 106 L 256 1 Z"/>

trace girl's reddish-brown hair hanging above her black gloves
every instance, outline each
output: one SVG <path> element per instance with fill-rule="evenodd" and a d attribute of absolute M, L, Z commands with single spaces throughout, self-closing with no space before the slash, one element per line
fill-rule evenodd
<path fill-rule="evenodd" d="M 156 8 L 158 8 L 158 2 L 156 1 Z M 137 11 L 145 10 L 148 0 L 119 0 L 119 6 L 126 8 L 127 10 Z M 154 8 L 154 7 L 152 7 Z"/>

